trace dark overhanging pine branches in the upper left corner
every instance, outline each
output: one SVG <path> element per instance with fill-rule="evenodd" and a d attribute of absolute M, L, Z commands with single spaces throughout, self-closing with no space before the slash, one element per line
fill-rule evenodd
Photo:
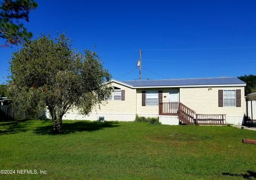
<path fill-rule="evenodd" d="M 37 7 L 34 0 L 4 0 L 0 4 L 0 38 L 6 45 L 18 45 L 32 37 L 22 20 L 29 21 L 29 12 Z"/>

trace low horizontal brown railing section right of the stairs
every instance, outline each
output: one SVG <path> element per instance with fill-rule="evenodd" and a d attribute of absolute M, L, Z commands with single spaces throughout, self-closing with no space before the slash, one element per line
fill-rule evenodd
<path fill-rule="evenodd" d="M 196 115 L 196 123 L 197 124 L 214 124 L 214 125 L 222 125 L 226 124 L 226 115 L 216 114 L 197 114 Z"/>

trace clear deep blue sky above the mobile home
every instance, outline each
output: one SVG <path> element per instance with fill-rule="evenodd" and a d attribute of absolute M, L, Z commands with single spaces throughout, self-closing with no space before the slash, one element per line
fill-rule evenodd
<path fill-rule="evenodd" d="M 26 24 L 34 38 L 65 32 L 74 48 L 95 50 L 117 80 L 139 78 L 139 49 L 142 79 L 255 74 L 253 0 L 37 3 Z M 0 83 L 18 48 L 0 48 Z"/>

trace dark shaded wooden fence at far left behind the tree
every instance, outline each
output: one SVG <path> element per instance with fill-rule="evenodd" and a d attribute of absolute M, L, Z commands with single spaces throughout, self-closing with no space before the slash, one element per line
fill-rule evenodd
<path fill-rule="evenodd" d="M 33 117 L 33 115 L 27 112 L 18 113 L 11 105 L 0 106 L 0 121 L 6 119 L 29 119 Z"/>

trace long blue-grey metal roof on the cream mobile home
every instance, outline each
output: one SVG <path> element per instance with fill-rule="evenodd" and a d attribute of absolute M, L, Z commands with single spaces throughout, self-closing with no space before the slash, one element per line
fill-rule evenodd
<path fill-rule="evenodd" d="M 142 81 L 120 81 L 132 87 L 165 87 L 186 85 L 246 85 L 245 82 L 236 77 L 221 78 L 196 78 L 196 79 L 167 79 L 167 80 L 142 80 Z"/>

